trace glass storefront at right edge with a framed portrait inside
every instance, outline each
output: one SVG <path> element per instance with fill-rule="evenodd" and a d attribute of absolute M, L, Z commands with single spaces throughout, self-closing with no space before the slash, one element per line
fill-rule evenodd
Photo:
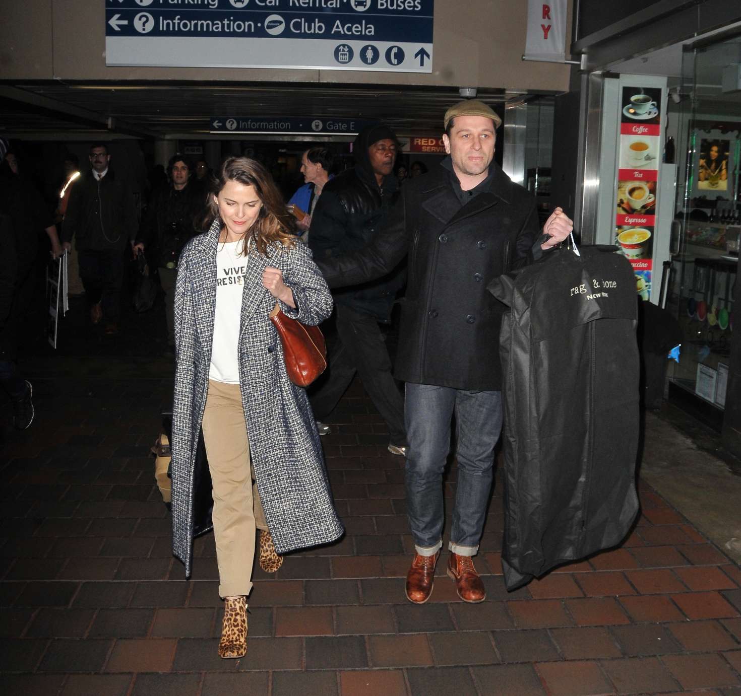
<path fill-rule="evenodd" d="M 677 201 L 666 308 L 682 347 L 669 369 L 669 396 L 720 430 L 741 231 L 741 35 L 685 50 L 670 94 Z"/>

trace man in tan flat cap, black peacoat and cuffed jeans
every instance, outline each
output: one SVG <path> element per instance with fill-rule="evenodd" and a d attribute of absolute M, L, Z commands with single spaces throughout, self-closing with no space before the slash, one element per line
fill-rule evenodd
<path fill-rule="evenodd" d="M 415 555 L 406 595 L 431 595 L 442 548 L 442 473 L 456 420 L 458 477 L 448 576 L 459 597 L 481 602 L 473 566 L 494 478 L 502 429 L 499 327 L 504 306 L 486 289 L 564 240 L 571 220 L 560 208 L 541 244 L 534 197 L 494 162 L 499 116 L 482 101 L 445 113 L 448 157 L 405 184 L 384 230 L 364 250 L 318 260 L 330 287 L 383 275 L 408 255 L 408 284 L 396 377 L 406 382 L 409 440 L 405 484 Z"/>

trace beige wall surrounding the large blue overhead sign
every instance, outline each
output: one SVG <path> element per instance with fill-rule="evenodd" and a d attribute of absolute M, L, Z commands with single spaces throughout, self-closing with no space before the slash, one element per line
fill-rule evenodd
<path fill-rule="evenodd" d="M 569 0 L 571 6 L 571 0 Z M 569 11 L 571 14 L 571 10 Z M 104 2 L 14 0 L 0 25 L 0 78 L 227 80 L 568 89 L 568 66 L 524 62 L 527 3 L 436 0 L 433 73 L 106 67 Z"/>

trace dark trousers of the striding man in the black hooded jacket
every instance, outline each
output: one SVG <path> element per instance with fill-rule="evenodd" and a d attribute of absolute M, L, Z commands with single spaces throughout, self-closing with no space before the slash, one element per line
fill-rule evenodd
<path fill-rule="evenodd" d="M 309 395 L 320 421 L 334 410 L 357 372 L 365 391 L 388 425 L 391 444 L 406 446 L 404 399 L 391 374 L 391 358 L 376 318 L 337 305 L 337 341 L 329 356 L 329 375 Z"/>

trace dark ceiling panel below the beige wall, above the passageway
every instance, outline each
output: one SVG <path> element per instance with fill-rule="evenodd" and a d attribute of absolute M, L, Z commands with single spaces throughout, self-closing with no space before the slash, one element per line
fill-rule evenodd
<path fill-rule="evenodd" d="M 80 123 L 64 116 L 64 107 L 76 107 L 125 122 L 130 133 L 141 129 L 150 137 L 168 134 L 204 134 L 212 116 L 312 116 L 383 120 L 399 131 L 439 133 L 445 109 L 459 100 L 455 88 L 359 87 L 316 84 L 14 84 L 31 96 L 59 104 L 59 112 L 40 112 L 19 101 L 2 100 L 0 133 L 99 130 L 100 123 Z M 479 90 L 479 98 L 502 112 L 505 101 L 522 93 Z"/>

